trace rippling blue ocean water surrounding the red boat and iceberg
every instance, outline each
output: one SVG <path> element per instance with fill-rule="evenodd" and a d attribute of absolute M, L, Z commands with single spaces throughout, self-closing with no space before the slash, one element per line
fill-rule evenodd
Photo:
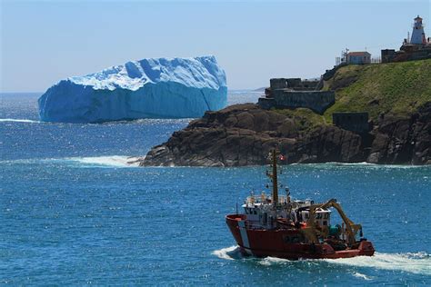
<path fill-rule="evenodd" d="M 290 262 L 242 257 L 226 213 L 265 167 L 137 167 L 189 120 L 38 122 L 40 94 L 0 97 L 0 284 L 430 285 L 431 168 L 294 164 L 296 198 L 336 198 L 376 255 Z M 231 92 L 229 102 L 256 101 Z"/>

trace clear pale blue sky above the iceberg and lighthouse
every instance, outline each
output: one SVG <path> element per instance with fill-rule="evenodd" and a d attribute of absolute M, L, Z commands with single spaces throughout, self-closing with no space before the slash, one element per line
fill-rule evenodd
<path fill-rule="evenodd" d="M 313 78 L 336 56 L 398 49 L 420 1 L 0 0 L 0 92 L 45 92 L 69 76 L 148 57 L 214 54 L 229 89 Z"/>

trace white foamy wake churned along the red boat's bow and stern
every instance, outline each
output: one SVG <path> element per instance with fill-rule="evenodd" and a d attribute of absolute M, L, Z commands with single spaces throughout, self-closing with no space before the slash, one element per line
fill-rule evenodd
<path fill-rule="evenodd" d="M 227 248 L 222 248 L 212 252 L 220 259 L 226 260 L 236 260 L 245 259 L 238 246 L 231 246 Z M 264 266 L 280 265 L 280 264 L 296 264 L 287 259 L 281 259 L 276 257 L 266 257 L 266 258 L 256 258 L 251 257 L 256 260 L 258 264 Z M 329 264 L 336 265 L 346 265 L 352 267 L 361 268 L 373 268 L 388 271 L 399 271 L 399 272 L 410 272 L 423 275 L 431 275 L 431 254 L 426 252 L 417 253 L 380 253 L 376 252 L 374 256 L 358 256 L 353 258 L 340 258 L 340 259 L 310 259 L 310 260 L 300 260 L 298 262 L 326 262 Z M 364 280 L 371 280 L 365 274 L 355 272 L 353 274 L 358 278 Z"/>

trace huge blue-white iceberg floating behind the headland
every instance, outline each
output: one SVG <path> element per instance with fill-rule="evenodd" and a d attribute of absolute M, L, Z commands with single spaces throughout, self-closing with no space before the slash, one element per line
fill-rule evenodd
<path fill-rule="evenodd" d="M 38 100 L 45 122 L 195 118 L 226 106 L 225 71 L 213 55 L 149 58 L 73 76 Z"/>

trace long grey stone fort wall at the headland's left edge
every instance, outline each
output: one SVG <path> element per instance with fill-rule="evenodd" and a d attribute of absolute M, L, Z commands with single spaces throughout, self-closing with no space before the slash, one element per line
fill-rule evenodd
<path fill-rule="evenodd" d="M 258 104 L 263 109 L 276 108 L 309 108 L 318 114 L 334 104 L 336 94 L 333 91 L 271 91 L 271 98 L 259 98 Z"/>

